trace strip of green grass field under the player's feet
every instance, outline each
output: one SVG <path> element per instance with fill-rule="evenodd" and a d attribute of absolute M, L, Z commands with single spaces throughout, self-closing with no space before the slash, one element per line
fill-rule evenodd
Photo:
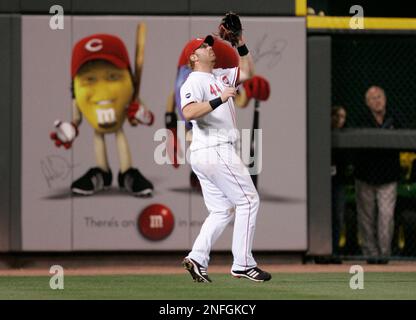
<path fill-rule="evenodd" d="M 416 299 L 416 273 L 366 273 L 364 289 L 349 287 L 348 273 L 273 274 L 267 283 L 212 274 L 213 283 L 183 275 L 65 276 L 64 290 L 49 277 L 2 276 L 0 299 Z"/>

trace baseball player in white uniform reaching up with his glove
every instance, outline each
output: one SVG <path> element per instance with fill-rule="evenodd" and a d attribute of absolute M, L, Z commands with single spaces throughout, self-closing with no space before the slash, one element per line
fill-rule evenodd
<path fill-rule="evenodd" d="M 214 69 L 215 40 L 210 35 L 194 39 L 187 46 L 192 72 L 181 87 L 181 108 L 185 119 L 193 125 L 190 162 L 209 215 L 182 264 L 194 281 L 211 282 L 207 273 L 211 248 L 235 216 L 231 274 L 263 282 L 270 280 L 271 275 L 257 267 L 251 250 L 259 195 L 234 147 L 238 138 L 236 87 L 253 76 L 254 64 L 236 14 L 225 16 L 220 36 L 237 47 L 238 67 Z"/>

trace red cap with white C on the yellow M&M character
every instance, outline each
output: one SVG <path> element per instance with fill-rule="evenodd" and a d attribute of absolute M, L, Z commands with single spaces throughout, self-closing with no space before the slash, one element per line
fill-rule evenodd
<path fill-rule="evenodd" d="M 120 69 L 130 69 L 129 54 L 123 41 L 111 34 L 93 34 L 79 40 L 72 50 L 71 76 L 91 60 L 105 60 Z"/>

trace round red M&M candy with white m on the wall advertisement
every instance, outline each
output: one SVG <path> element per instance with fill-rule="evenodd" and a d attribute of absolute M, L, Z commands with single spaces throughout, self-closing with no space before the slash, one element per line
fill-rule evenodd
<path fill-rule="evenodd" d="M 167 238 L 173 230 L 172 211 L 163 204 L 152 204 L 139 215 L 138 228 L 146 239 L 158 241 Z"/>

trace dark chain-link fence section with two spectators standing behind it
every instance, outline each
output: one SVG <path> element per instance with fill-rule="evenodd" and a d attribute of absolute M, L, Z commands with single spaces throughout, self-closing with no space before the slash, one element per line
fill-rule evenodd
<path fill-rule="evenodd" d="M 333 130 L 416 130 L 415 79 L 414 35 L 333 35 Z M 416 258 L 415 160 L 410 147 L 332 148 L 335 258 Z"/>

